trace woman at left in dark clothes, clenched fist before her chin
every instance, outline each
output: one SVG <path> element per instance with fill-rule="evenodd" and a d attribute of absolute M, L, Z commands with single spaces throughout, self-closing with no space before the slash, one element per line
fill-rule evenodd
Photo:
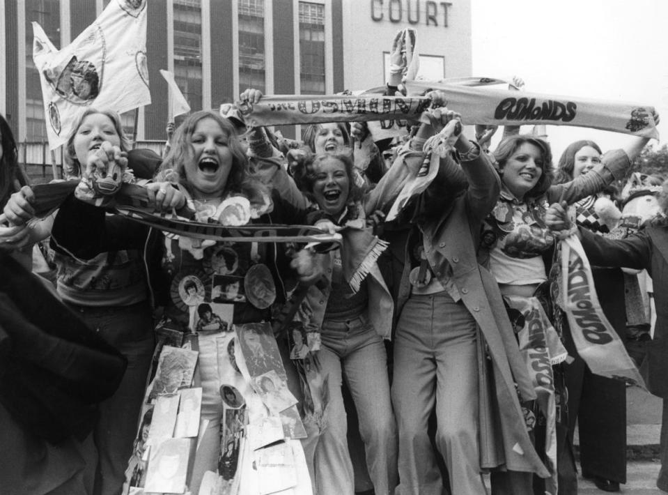
<path fill-rule="evenodd" d="M 66 178 L 86 176 L 85 187 L 91 196 L 106 201 L 111 197 L 109 194 L 120 188 L 130 141 L 123 133 L 121 117 L 116 112 L 86 109 L 64 148 Z M 154 190 L 158 187 L 150 186 Z M 5 209 L 13 223 L 24 224 L 33 218 L 30 204 L 33 197 L 27 186 L 13 195 Z M 75 202 L 80 201 L 70 196 L 61 209 L 67 210 Z M 104 210 L 100 208 L 100 211 L 104 216 Z M 86 230 L 84 217 L 85 213 L 70 218 L 73 239 L 79 243 L 79 250 L 85 250 L 88 243 L 98 242 L 91 231 Z M 49 218 L 36 223 L 45 230 L 42 238 L 49 235 L 51 221 Z M 114 493 L 121 488 L 132 452 L 143 383 L 155 347 L 152 305 L 157 294 L 149 279 L 160 271 L 162 256 L 160 236 L 156 233 L 150 234 L 145 227 L 125 218 L 114 218 L 113 222 L 126 235 L 136 236 L 138 241 L 134 247 L 107 245 L 97 252 L 77 257 L 63 250 L 53 237 L 51 241 L 57 268 L 56 289 L 63 303 L 128 360 L 118 390 L 100 404 L 100 418 L 91 435 L 97 452 L 91 457 L 94 460 L 89 459 L 86 470 L 91 480 L 95 478 L 100 493 Z"/>

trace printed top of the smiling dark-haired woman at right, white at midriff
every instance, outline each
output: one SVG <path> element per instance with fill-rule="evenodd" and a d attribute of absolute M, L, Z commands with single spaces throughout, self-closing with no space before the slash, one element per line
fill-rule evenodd
<path fill-rule="evenodd" d="M 499 201 L 483 222 L 481 254 L 488 254 L 499 284 L 538 284 L 547 280 L 543 253 L 554 243 L 545 225 L 545 197 L 519 201 L 502 188 Z"/>

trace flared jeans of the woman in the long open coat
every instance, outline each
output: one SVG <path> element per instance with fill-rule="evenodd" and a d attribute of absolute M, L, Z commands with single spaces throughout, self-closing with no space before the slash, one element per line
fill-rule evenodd
<path fill-rule="evenodd" d="M 451 493 L 486 494 L 480 472 L 476 321 L 446 292 L 412 295 L 394 341 L 392 403 L 399 434 L 397 494 L 441 495 L 443 482 L 427 433 L 436 411 L 436 446 Z"/>

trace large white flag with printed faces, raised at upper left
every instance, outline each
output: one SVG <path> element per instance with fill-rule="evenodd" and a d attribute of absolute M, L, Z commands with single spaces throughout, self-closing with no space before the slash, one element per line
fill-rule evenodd
<path fill-rule="evenodd" d="M 64 144 L 88 107 L 123 113 L 150 104 L 146 1 L 112 0 L 70 45 L 57 50 L 33 22 L 49 148 Z"/>

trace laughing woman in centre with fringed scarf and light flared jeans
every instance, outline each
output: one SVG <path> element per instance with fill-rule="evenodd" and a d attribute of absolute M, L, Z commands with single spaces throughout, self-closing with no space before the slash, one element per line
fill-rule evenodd
<path fill-rule="evenodd" d="M 366 201 L 364 191 L 355 183 L 354 165 L 350 151 L 343 148 L 340 125 L 323 124 L 323 129 L 329 137 L 323 132 L 316 139 L 316 148 L 322 153 L 306 162 L 300 181 L 302 190 L 318 206 L 309 217 L 323 229 L 355 229 L 355 236 L 344 242 L 341 250 L 318 255 L 327 284 L 311 287 L 307 298 L 314 313 L 311 323 L 321 328 L 317 356 L 329 390 L 327 426 L 315 448 L 316 487 L 320 495 L 355 492 L 341 393 L 345 378 L 357 409 L 375 493 L 391 494 L 397 484 L 397 439 L 383 340 L 390 338 L 394 305 L 376 264 L 386 244 L 366 226 L 366 215 L 373 210 L 368 211 L 365 205 L 376 199 Z M 359 282 L 352 284 L 355 271 Z"/>

